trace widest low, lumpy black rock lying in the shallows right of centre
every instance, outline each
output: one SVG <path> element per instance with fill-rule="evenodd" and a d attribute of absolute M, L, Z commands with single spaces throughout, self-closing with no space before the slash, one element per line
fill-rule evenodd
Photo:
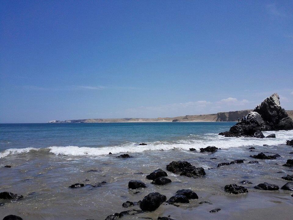
<path fill-rule="evenodd" d="M 202 167 L 194 167 L 187 161 L 173 161 L 167 165 L 167 170 L 180 174 L 180 176 L 187 176 L 187 177 L 202 177 L 205 175 L 204 168 Z"/>

